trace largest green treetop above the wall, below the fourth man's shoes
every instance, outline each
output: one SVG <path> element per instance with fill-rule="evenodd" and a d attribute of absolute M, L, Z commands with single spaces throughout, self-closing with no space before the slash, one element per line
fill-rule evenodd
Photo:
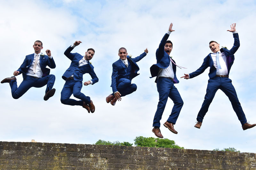
<path fill-rule="evenodd" d="M 136 146 L 146 146 L 146 147 L 157 147 L 157 148 L 180 148 L 184 149 L 184 147 L 180 147 L 175 144 L 173 140 L 164 138 L 154 138 L 154 137 L 136 137 L 134 139 L 134 144 Z"/>

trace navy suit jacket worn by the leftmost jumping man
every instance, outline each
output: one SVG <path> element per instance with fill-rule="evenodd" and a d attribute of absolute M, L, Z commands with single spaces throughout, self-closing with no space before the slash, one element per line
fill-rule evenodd
<path fill-rule="evenodd" d="M 42 53 L 38 55 L 41 55 L 41 54 Z M 28 72 L 29 67 L 32 65 L 33 60 L 34 60 L 34 53 L 30 55 L 26 55 L 23 63 L 21 64 L 20 68 L 17 70 L 17 71 L 20 71 L 19 74 L 22 73 L 23 79 L 27 77 L 26 73 Z M 56 67 L 53 57 L 49 58 L 48 55 L 41 55 L 39 61 L 40 61 L 41 70 L 43 72 L 43 77 L 50 74 L 50 69 L 46 68 L 47 65 L 51 69 L 54 69 Z"/>

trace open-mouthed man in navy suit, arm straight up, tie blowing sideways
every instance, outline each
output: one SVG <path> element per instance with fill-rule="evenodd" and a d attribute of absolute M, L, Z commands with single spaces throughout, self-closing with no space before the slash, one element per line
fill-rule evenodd
<path fill-rule="evenodd" d="M 158 49 L 156 50 L 156 64 L 150 67 L 150 78 L 156 77 L 156 86 L 159 93 L 159 102 L 157 105 L 156 114 L 153 120 L 152 132 L 156 137 L 163 138 L 160 131 L 160 120 L 162 118 L 164 108 L 168 97 L 170 97 L 174 103 L 171 115 L 164 123 L 164 126 L 168 128 L 172 133 L 178 132 L 174 129 L 173 125 L 176 123 L 180 110 L 183 106 L 183 100 L 180 97 L 180 93 L 174 86 L 175 83 L 179 83 L 176 77 L 176 64 L 175 61 L 169 56 L 172 51 L 172 42 L 167 41 L 170 33 L 174 31 L 172 29 L 172 23 L 169 26 L 169 30 L 165 33 L 161 40 Z"/>

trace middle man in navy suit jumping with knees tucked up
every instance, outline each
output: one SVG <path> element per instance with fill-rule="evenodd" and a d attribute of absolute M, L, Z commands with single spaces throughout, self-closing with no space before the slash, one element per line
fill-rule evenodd
<path fill-rule="evenodd" d="M 148 48 L 146 48 L 144 53 L 140 56 L 132 58 L 127 54 L 127 50 L 124 47 L 118 50 L 118 56 L 120 59 L 112 64 L 113 72 L 111 77 L 111 87 L 113 93 L 106 98 L 107 103 L 110 102 L 111 105 L 115 106 L 116 100 L 121 101 L 121 96 L 124 97 L 127 94 L 131 94 L 136 91 L 137 86 L 135 84 L 131 84 L 132 78 L 139 75 L 137 72 L 140 69 L 136 62 L 145 57 L 147 53 Z"/>

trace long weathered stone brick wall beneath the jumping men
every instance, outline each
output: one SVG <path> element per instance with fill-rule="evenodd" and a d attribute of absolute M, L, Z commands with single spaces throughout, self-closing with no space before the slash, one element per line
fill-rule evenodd
<path fill-rule="evenodd" d="M 256 169 L 255 153 L 133 146 L 0 142 L 0 169 Z"/>

